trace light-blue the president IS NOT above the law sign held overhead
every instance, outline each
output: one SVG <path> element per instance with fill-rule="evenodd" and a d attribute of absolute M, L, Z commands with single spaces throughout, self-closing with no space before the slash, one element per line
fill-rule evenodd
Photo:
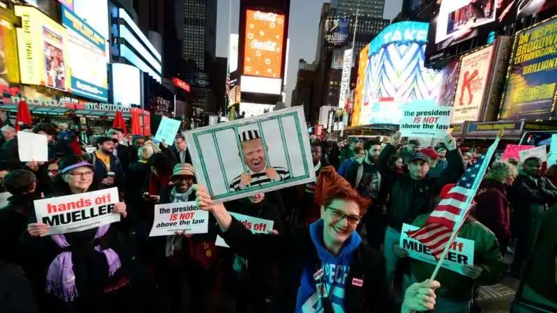
<path fill-rule="evenodd" d="M 400 119 L 400 133 L 403 137 L 443 138 L 450 127 L 453 107 L 420 102 L 404 106 Z"/>

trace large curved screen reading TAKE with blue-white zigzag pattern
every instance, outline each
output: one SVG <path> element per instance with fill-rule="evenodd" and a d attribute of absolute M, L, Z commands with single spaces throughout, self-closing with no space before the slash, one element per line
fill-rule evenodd
<path fill-rule="evenodd" d="M 424 67 L 426 41 L 427 23 L 421 22 L 391 24 L 372 40 L 361 109 L 381 98 L 437 100 L 441 75 Z M 363 114 L 360 121 L 361 125 L 370 123 Z"/>

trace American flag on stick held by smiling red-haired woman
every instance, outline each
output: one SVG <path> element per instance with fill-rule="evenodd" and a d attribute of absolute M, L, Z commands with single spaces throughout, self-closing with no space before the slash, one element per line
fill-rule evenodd
<path fill-rule="evenodd" d="M 480 183 L 489 165 L 489 160 L 491 160 L 497 144 L 499 144 L 499 137 L 487 149 L 487 153 L 476 159 L 476 162 L 466 169 L 464 176 L 441 199 L 441 202 L 439 202 L 430 216 L 427 217 L 421 229 L 407 232 L 409 237 L 425 245 L 437 261 L 441 259 L 441 254 L 443 254 L 445 247 L 450 245 L 449 241 L 453 232 L 455 232 L 454 239 L 462 226 L 462 222 L 468 216 L 473 198 L 476 192 L 478 192 Z"/>

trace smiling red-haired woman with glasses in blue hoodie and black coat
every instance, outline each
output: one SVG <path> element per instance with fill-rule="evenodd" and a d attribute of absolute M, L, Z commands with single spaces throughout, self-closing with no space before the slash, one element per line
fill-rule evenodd
<path fill-rule="evenodd" d="M 200 208 L 211 212 L 221 236 L 240 257 L 284 265 L 277 312 L 414 312 L 432 310 L 438 282 L 409 287 L 402 307 L 391 295 L 384 259 L 356 233 L 369 201 L 350 187 L 327 190 L 321 219 L 288 235 L 253 234 L 207 190 L 194 185 Z M 288 251 L 288 253 L 285 253 Z"/>

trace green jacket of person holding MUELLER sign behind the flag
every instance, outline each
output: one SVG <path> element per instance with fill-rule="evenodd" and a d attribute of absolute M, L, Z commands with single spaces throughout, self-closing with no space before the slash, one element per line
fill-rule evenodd
<path fill-rule="evenodd" d="M 414 226 L 422 227 L 427 217 L 429 214 L 418 216 Z M 501 282 L 508 266 L 503 260 L 495 235 L 480 222 L 464 222 L 458 237 L 474 241 L 474 265 L 483 268 L 482 274 L 474 281 L 470 277 L 441 268 L 435 277 L 441 287 L 435 294 L 448 300 L 466 301 L 472 299 L 474 284 L 492 285 Z M 430 279 L 434 269 L 432 264 L 410 259 L 410 273 L 418 282 Z"/>

